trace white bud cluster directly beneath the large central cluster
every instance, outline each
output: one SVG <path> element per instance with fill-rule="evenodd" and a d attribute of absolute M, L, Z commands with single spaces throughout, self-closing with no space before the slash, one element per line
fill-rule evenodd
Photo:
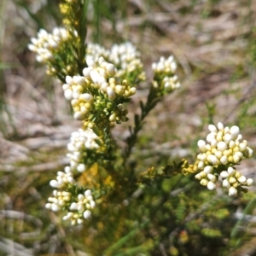
<path fill-rule="evenodd" d="M 67 144 L 67 149 L 70 153 L 67 157 L 70 159 L 71 170 L 84 172 L 86 166 L 84 160 L 87 157 L 88 150 L 96 151 L 100 146 L 100 138 L 90 128 L 86 130 L 79 129 L 74 131 L 70 137 L 70 143 Z"/>

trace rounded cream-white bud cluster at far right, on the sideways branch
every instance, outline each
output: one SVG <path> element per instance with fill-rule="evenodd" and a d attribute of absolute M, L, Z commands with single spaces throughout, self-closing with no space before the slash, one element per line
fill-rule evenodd
<path fill-rule="evenodd" d="M 201 154 L 197 155 L 195 167 L 201 172 L 197 173 L 195 178 L 207 186 L 207 189 L 213 190 L 220 176 L 223 186 L 229 189 L 229 195 L 237 195 L 238 187 L 250 186 L 253 180 L 241 176 L 232 166 L 251 157 L 253 149 L 247 147 L 246 140 L 242 140 L 240 129 L 236 125 L 230 128 L 218 123 L 217 127 L 209 125 L 208 129 L 210 133 L 207 135 L 207 143 L 203 140 L 197 143 Z M 223 171 L 224 168 L 227 168 L 227 171 Z M 218 173 L 219 169 L 222 172 Z"/>

